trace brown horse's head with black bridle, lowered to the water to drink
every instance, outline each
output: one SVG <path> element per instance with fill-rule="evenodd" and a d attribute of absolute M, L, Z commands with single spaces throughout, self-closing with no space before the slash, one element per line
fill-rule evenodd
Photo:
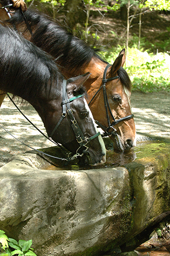
<path fill-rule="evenodd" d="M 97 84 L 100 83 L 102 85 L 106 82 L 90 102 L 90 108 L 94 119 L 107 132 L 106 135 L 113 140 L 113 146 L 118 151 L 128 151 L 136 143 L 136 129 L 130 102 L 131 81 L 126 71 L 122 68 L 125 60 L 125 49 L 123 49 L 107 71 L 107 64 L 105 64 L 105 81 L 103 80 L 103 74 L 101 74 L 93 82 L 91 89 L 88 90 L 89 99 L 92 99 L 97 93 L 97 89 L 99 89 Z M 106 89 L 107 98 L 104 97 L 103 87 Z M 128 116 L 130 116 L 129 119 L 126 118 Z M 125 119 L 119 120 L 120 118 Z"/>

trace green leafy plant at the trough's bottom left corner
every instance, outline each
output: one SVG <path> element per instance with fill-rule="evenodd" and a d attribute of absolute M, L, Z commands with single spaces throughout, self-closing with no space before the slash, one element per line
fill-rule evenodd
<path fill-rule="evenodd" d="M 2 252 L 0 256 L 36 256 L 31 248 L 32 240 L 25 241 L 20 239 L 17 242 L 13 238 L 8 238 L 2 230 L 0 230 L 0 244 L 0 251 Z"/>

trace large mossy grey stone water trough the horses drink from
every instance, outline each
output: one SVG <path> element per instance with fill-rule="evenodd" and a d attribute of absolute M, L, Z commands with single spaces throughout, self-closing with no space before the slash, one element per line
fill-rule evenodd
<path fill-rule="evenodd" d="M 0 168 L 0 229 L 32 239 L 38 256 L 98 256 L 135 246 L 138 234 L 170 214 L 170 141 L 142 138 L 119 154 L 105 143 L 100 168 L 65 166 L 32 151 L 11 158 Z M 62 154 L 44 149 L 51 150 Z"/>

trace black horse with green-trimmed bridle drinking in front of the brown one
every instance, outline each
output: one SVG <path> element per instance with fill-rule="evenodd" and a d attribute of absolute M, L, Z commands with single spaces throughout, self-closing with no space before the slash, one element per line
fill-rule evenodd
<path fill-rule="evenodd" d="M 106 149 L 84 98 L 89 75 L 66 81 L 48 54 L 0 25 L 0 89 L 28 101 L 53 141 L 97 164 L 105 162 Z"/>

